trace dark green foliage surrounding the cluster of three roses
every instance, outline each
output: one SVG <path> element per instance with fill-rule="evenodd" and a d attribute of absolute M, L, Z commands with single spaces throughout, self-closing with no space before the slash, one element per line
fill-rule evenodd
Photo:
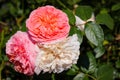
<path fill-rule="evenodd" d="M 52 5 L 63 10 L 77 34 L 80 56 L 76 65 L 59 74 L 26 76 L 17 73 L 6 56 L 9 38 L 26 31 L 32 10 Z M 77 6 L 77 7 L 76 7 Z M 94 13 L 95 21 L 87 22 Z M 75 15 L 85 21 L 83 31 L 75 25 Z M 120 80 L 120 1 L 119 0 L 0 0 L 0 80 Z"/>

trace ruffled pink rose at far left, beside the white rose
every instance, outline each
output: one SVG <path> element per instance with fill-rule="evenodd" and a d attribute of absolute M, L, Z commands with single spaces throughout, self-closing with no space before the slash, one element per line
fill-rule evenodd
<path fill-rule="evenodd" d="M 37 50 L 26 32 L 18 31 L 6 43 L 6 54 L 15 70 L 27 75 L 34 74 Z"/>

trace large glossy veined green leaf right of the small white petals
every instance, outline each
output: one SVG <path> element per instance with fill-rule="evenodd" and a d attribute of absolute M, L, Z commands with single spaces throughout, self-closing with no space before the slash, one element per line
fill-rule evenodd
<path fill-rule="evenodd" d="M 87 23 L 85 25 L 85 34 L 87 39 L 94 45 L 98 46 L 99 44 L 103 43 L 104 33 L 98 24 L 93 22 Z"/>

